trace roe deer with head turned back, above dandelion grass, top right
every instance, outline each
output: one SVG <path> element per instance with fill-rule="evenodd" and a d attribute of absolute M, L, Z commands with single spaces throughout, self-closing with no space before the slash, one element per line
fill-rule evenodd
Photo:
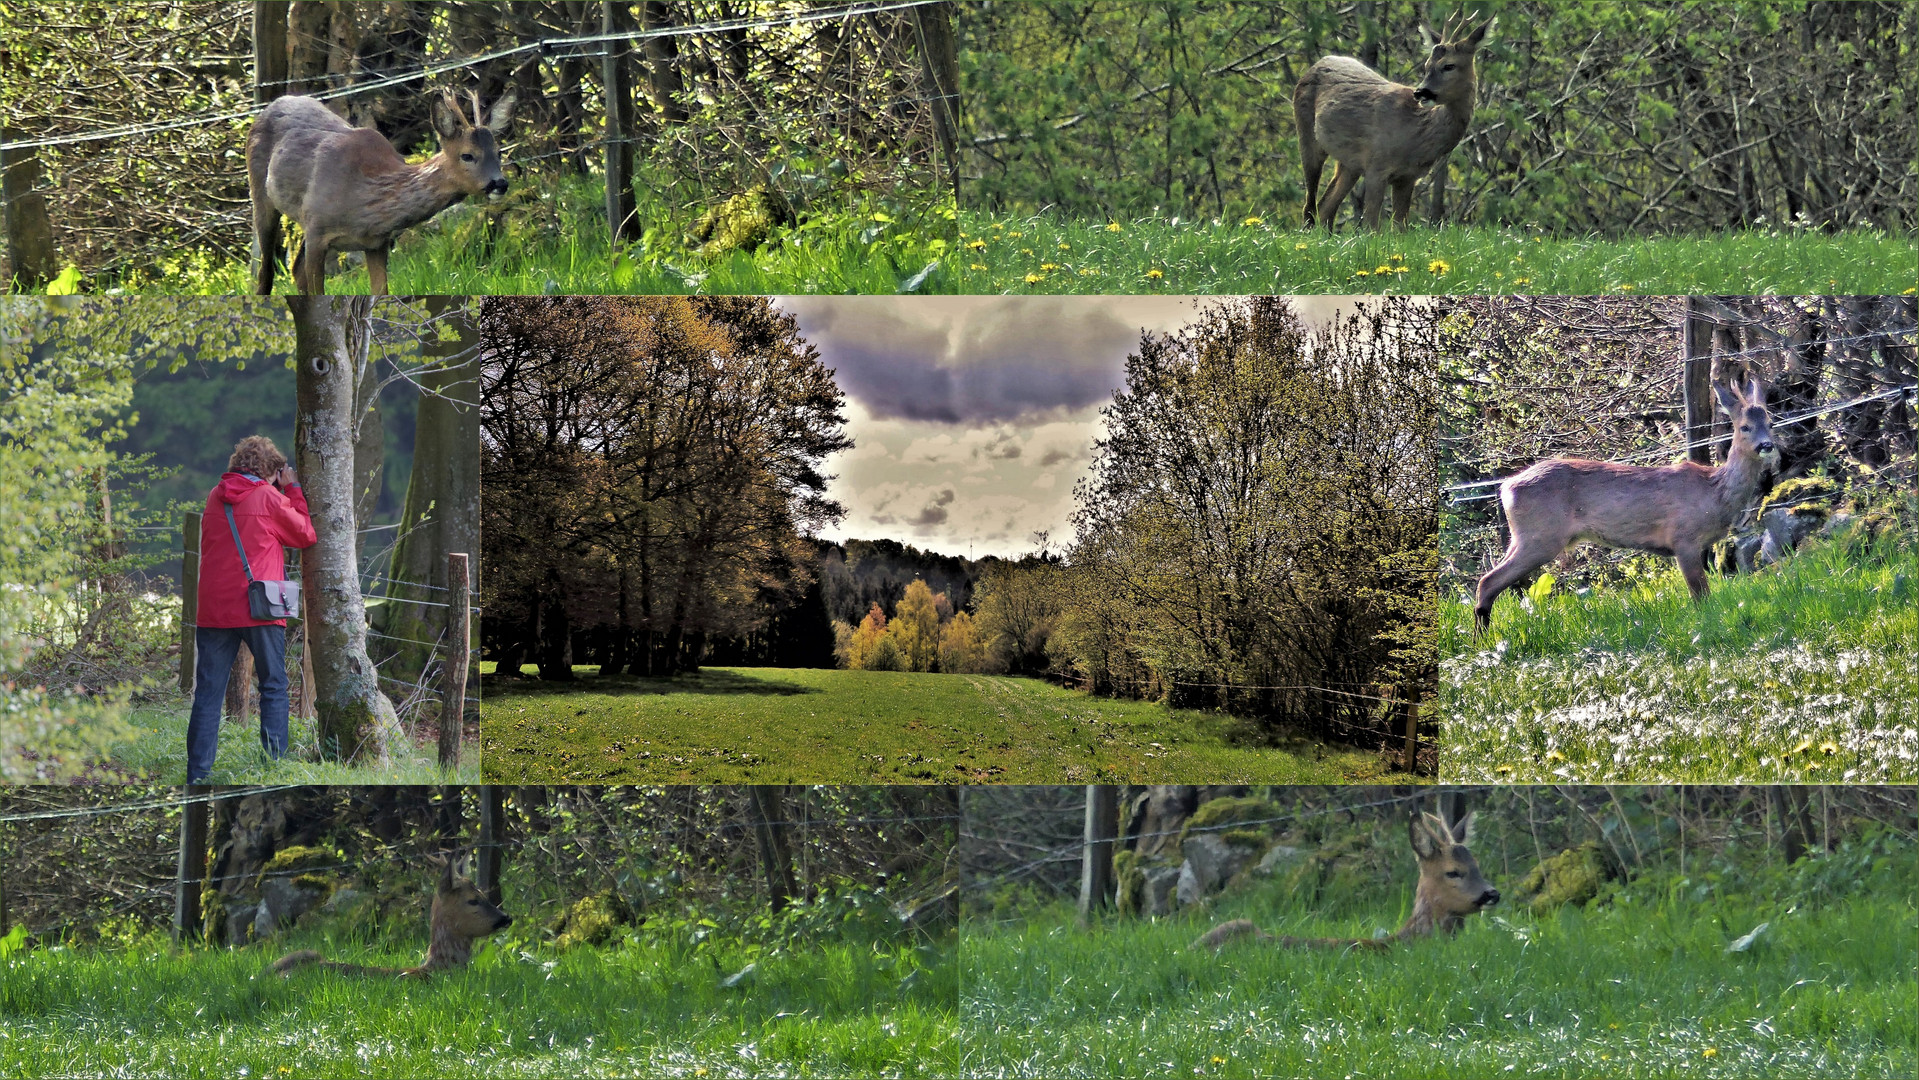
<path fill-rule="evenodd" d="M 1445 157 L 1472 123 L 1480 92 L 1474 54 L 1495 19 L 1458 36 L 1468 21 L 1460 17 L 1447 23 L 1437 40 L 1420 23 L 1420 38 L 1430 56 L 1418 86 L 1389 82 L 1351 56 L 1322 58 L 1299 79 L 1293 88 L 1293 119 L 1299 125 L 1299 159 L 1307 169 L 1307 228 L 1313 228 L 1313 198 L 1318 194 L 1326 157 L 1338 163 L 1332 186 L 1318 203 L 1318 221 L 1328 230 L 1361 176 L 1366 176 L 1366 228 L 1380 226 L 1387 188 L 1393 190 L 1393 224 L 1407 226 L 1414 180 Z"/>

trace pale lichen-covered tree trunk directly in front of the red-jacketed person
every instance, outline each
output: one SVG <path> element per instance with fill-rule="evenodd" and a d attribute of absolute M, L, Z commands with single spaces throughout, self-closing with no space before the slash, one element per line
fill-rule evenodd
<path fill-rule="evenodd" d="M 370 297 L 288 297 L 299 393 L 299 480 L 319 537 L 301 558 L 320 758 L 386 763 L 399 739 L 393 704 L 367 656 L 353 516 L 355 389 L 367 366 Z"/>

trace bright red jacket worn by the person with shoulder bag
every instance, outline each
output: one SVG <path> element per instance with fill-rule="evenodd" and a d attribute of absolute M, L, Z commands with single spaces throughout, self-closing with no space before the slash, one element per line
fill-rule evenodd
<path fill-rule="evenodd" d="M 248 562 L 255 581 L 286 579 L 282 547 L 313 547 L 313 518 L 299 485 L 288 485 L 286 495 L 265 480 L 249 480 L 238 472 L 221 476 L 207 493 L 207 512 L 200 520 L 200 614 L 196 625 L 242 627 L 286 625 L 286 620 L 255 620 L 246 606 L 246 570 L 234 551 L 234 533 L 226 528 L 226 506 L 234 508 L 234 526 L 246 541 Z"/>

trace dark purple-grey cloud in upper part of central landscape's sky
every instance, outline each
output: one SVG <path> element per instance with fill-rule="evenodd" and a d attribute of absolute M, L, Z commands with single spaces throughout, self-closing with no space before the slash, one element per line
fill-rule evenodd
<path fill-rule="evenodd" d="M 992 424 L 1105 401 L 1140 322 L 1084 297 L 785 297 L 875 418 Z"/>

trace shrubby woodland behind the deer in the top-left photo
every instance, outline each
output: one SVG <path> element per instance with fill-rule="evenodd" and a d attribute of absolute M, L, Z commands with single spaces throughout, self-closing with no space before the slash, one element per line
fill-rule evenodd
<path fill-rule="evenodd" d="M 284 81 L 255 73 L 257 8 L 272 4 L 0 4 L 6 140 L 52 140 L 10 152 L 6 200 L 23 207 L 10 223 L 40 232 L 10 234 L 15 251 L 35 251 L 13 257 L 13 274 L 33 284 L 77 267 L 138 282 L 244 263 L 248 115 L 282 92 L 340 94 L 336 109 L 413 153 L 434 146 L 430 84 L 478 88 L 489 104 L 512 88 L 514 190 L 466 224 L 466 244 L 484 253 L 578 230 L 553 196 L 604 176 L 606 46 L 539 42 L 599 35 L 606 19 L 722 27 L 631 46 L 629 86 L 612 100 L 639 198 L 616 240 L 683 257 L 702 211 L 746 192 L 770 194 L 766 213 L 791 224 L 887 207 L 888 223 L 917 219 L 954 190 L 950 90 L 929 90 L 954 84 L 944 4 L 296 2 Z M 844 17 L 781 23 L 823 10 Z M 90 138 L 100 132 L 117 134 Z M 597 200 L 580 201 L 591 219 Z"/>

